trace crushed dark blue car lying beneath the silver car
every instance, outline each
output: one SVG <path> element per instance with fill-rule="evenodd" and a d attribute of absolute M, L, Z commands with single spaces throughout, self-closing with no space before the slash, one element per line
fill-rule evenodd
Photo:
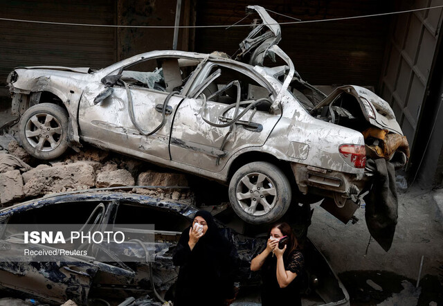
<path fill-rule="evenodd" d="M 2 295 L 34 298 L 39 303 L 60 305 L 73 300 L 78 305 L 121 305 L 128 297 L 148 294 L 158 301 L 174 300 L 174 283 L 178 267 L 172 254 L 182 231 L 192 224 L 197 208 L 180 201 L 166 201 L 146 195 L 103 190 L 87 190 L 48 195 L 0 210 L 0 290 Z M 17 262 L 17 251 L 24 249 L 51 250 L 44 243 L 24 240 L 23 224 L 85 224 L 103 231 L 123 231 L 128 239 L 118 248 L 94 245 L 88 255 L 69 255 L 65 260 L 42 262 L 30 256 Z M 260 273 L 251 272 L 251 260 L 266 246 L 267 234 L 247 237 L 217 220 L 221 233 L 234 247 L 235 281 L 240 293 L 255 291 Z M 14 227 L 19 224 L 21 227 Z M 122 224 L 125 224 L 123 227 Z M 146 229 L 140 224 L 152 224 L 154 240 L 146 239 Z M 17 231 L 15 231 L 17 230 Z M 134 239 L 133 237 L 140 238 Z M 105 244 L 104 244 L 105 245 Z M 100 247 L 99 247 L 100 246 Z M 64 247 L 62 245 L 62 247 Z M 87 246 L 80 246 L 84 250 Z M 104 249 L 105 248 L 105 249 Z M 106 251 L 109 260 L 99 260 Z M 349 305 L 349 295 L 323 255 L 309 240 L 303 253 L 306 258 L 304 285 L 301 293 L 308 305 Z M 145 260 L 149 254 L 152 260 Z M 116 258 L 128 260 L 116 260 Z M 130 261 L 129 257 L 137 260 Z M 248 289 L 249 288 L 249 289 Z M 161 305 L 158 302 L 143 305 Z M 124 305 L 129 305 L 124 304 Z M 140 304 L 130 304 L 140 305 Z"/>

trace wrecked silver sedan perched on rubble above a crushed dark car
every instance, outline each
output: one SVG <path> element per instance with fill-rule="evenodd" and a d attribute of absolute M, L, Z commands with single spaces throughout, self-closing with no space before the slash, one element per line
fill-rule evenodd
<path fill-rule="evenodd" d="M 408 144 L 388 102 L 358 86 L 331 95 L 311 86 L 262 23 L 224 53 L 151 51 L 93 71 L 19 67 L 8 76 L 19 136 L 37 159 L 89 143 L 229 186 L 251 224 L 291 203 L 324 206 L 343 222 L 372 185 L 368 158 L 406 164 Z M 264 65 L 268 58 L 276 64 Z M 271 61 L 270 61 L 271 62 Z"/>

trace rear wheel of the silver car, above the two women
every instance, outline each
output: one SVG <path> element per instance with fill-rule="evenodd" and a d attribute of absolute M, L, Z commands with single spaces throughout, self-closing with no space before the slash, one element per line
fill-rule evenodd
<path fill-rule="evenodd" d="M 275 222 L 291 204 L 291 184 L 272 163 L 248 163 L 230 179 L 230 204 L 237 215 L 251 224 Z"/>

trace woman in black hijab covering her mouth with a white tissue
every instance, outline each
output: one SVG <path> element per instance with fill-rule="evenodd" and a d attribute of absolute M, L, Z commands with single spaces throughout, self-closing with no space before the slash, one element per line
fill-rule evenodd
<path fill-rule="evenodd" d="M 197 212 L 173 257 L 174 265 L 180 266 L 174 306 L 228 305 L 234 297 L 231 251 L 232 244 L 219 233 L 213 215 Z"/>

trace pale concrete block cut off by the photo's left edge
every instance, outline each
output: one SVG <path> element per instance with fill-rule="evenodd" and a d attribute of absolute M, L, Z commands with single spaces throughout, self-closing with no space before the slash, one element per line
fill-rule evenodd
<path fill-rule="evenodd" d="M 0 174 L 0 203 L 8 204 L 24 197 L 23 179 L 20 170 Z"/>

